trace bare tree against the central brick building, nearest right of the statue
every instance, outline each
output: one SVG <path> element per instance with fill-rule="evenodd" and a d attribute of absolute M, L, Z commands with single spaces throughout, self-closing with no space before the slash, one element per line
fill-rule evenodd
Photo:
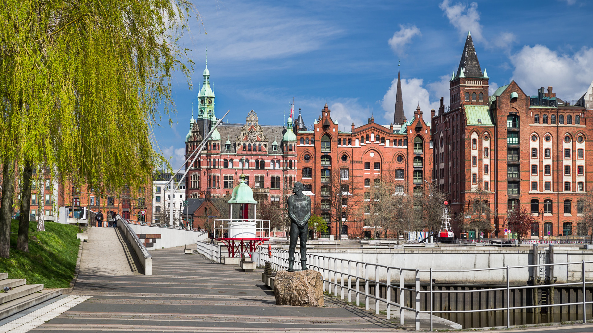
<path fill-rule="evenodd" d="M 345 222 L 361 219 L 364 199 L 355 190 L 356 182 L 350 175 L 349 169 L 333 170 L 330 175 L 330 182 L 322 183 L 322 185 L 329 186 L 330 193 L 329 198 L 321 200 L 321 210 L 330 210 L 331 216 L 336 220 L 338 227 L 336 238 L 340 239 Z"/>

